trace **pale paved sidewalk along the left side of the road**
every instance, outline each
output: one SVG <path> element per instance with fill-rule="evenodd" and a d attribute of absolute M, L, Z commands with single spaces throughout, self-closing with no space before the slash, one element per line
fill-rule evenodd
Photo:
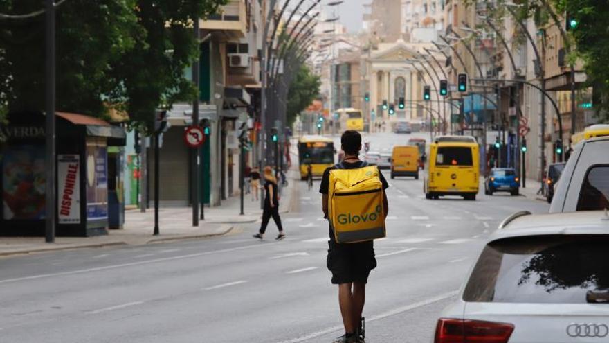
<path fill-rule="evenodd" d="M 289 186 L 283 189 L 280 211 L 290 211 L 296 199 L 298 172 L 288 173 Z M 259 197 L 260 199 L 260 197 Z M 221 206 L 205 208 L 205 220 L 199 227 L 192 226 L 192 208 L 165 207 L 158 211 L 159 235 L 153 236 L 154 209 L 141 213 L 139 209 L 125 211 L 125 225 L 122 230 L 109 230 L 107 236 L 96 237 L 57 237 L 55 243 L 44 243 L 43 237 L 1 237 L 0 256 L 32 254 L 66 249 L 109 247 L 115 245 L 146 245 L 172 240 L 206 238 L 228 234 L 235 225 L 256 222 L 262 216 L 260 200 L 252 201 L 251 194 L 244 197 L 244 215 L 239 215 L 239 196 L 223 200 Z"/>

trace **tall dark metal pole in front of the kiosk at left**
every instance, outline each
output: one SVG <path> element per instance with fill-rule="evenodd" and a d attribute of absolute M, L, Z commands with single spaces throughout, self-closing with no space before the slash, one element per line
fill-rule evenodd
<path fill-rule="evenodd" d="M 57 154 L 55 151 L 55 1 L 46 0 L 46 216 L 44 231 L 46 243 L 55 242 L 57 196 Z"/>

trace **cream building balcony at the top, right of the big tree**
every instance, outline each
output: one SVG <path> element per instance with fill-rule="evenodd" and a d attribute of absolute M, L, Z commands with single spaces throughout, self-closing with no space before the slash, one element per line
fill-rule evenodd
<path fill-rule="evenodd" d="M 217 14 L 199 20 L 202 30 L 223 30 L 229 37 L 242 38 L 247 33 L 247 8 L 245 0 L 230 0 Z"/>

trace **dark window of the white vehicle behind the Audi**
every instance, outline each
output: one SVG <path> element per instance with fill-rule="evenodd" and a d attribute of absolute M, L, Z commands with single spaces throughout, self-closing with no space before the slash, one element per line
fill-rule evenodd
<path fill-rule="evenodd" d="M 576 211 L 609 209 L 609 166 L 592 166 L 585 175 Z"/>

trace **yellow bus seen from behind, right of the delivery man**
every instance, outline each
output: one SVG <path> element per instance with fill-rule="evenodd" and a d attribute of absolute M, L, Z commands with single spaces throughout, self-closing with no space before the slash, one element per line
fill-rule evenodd
<path fill-rule="evenodd" d="M 425 197 L 460 195 L 475 200 L 480 177 L 480 155 L 474 137 L 438 137 L 430 144 Z"/>

